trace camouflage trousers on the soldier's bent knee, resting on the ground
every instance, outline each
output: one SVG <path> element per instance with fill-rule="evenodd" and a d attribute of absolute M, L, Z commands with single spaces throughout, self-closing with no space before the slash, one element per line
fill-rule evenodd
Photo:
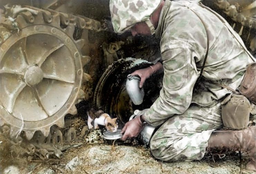
<path fill-rule="evenodd" d="M 222 126 L 221 105 L 191 104 L 186 112 L 164 122 L 150 141 L 152 155 L 161 161 L 203 158 L 211 133 Z"/>

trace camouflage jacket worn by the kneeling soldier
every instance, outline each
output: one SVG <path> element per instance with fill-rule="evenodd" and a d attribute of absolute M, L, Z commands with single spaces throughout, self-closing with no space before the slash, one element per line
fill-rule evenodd
<path fill-rule="evenodd" d="M 214 83 L 237 89 L 247 65 L 254 61 L 225 19 L 201 6 L 192 1 L 166 0 L 162 8 L 155 32 L 160 39 L 163 88 L 144 114 L 146 122 L 153 126 L 184 113 L 191 103 L 209 106 L 231 93 Z M 200 83 L 197 79 L 206 55 L 207 33 L 195 13 L 205 23 L 209 36 L 209 52 Z"/>

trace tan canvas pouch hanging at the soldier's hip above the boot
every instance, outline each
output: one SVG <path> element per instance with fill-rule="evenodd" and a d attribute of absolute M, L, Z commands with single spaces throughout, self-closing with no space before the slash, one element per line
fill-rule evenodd
<path fill-rule="evenodd" d="M 225 127 L 244 129 L 249 124 L 251 105 L 243 96 L 231 93 L 221 102 L 221 117 Z"/>

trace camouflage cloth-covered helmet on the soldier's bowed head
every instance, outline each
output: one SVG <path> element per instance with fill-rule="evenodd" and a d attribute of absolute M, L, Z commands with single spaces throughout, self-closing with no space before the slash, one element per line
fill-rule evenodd
<path fill-rule="evenodd" d="M 111 21 L 115 33 L 123 33 L 138 22 L 149 22 L 150 15 L 158 8 L 161 1 L 110 0 Z"/>

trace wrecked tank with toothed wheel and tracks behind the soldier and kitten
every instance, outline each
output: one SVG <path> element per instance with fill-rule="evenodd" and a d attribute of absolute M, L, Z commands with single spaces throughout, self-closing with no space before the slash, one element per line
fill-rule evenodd
<path fill-rule="evenodd" d="M 256 55 L 254 0 L 202 3 L 226 18 Z M 144 84 L 141 105 L 134 105 L 125 89 L 128 74 L 160 58 L 158 45 L 153 37 L 115 34 L 108 1 L 1 1 L 1 133 L 28 154 L 47 159 L 59 157 L 64 142 L 86 131 L 67 125 L 65 117 L 79 111 L 85 116 L 94 106 L 124 124 L 158 97 L 161 72 Z"/>

